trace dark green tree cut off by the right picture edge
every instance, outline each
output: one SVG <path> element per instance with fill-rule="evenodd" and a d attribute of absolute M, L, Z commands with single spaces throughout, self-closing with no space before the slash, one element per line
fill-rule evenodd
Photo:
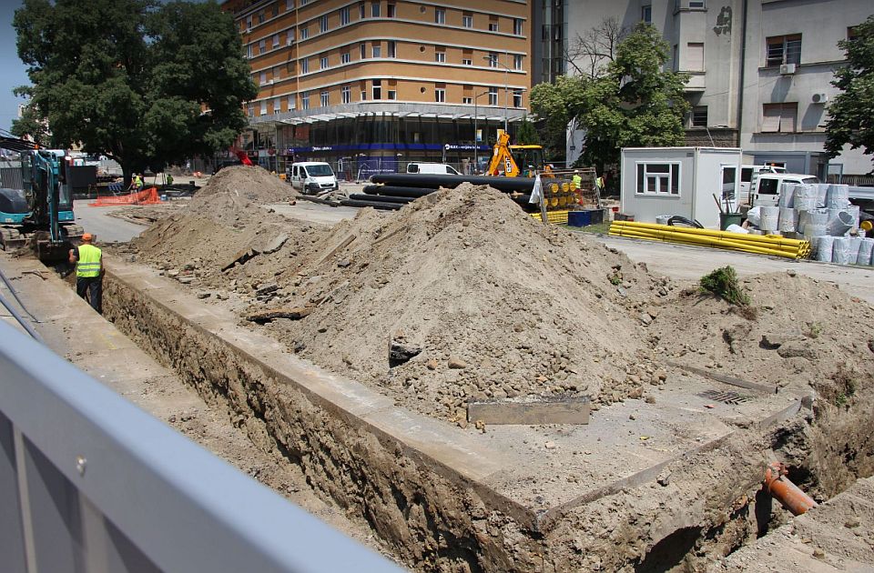
<path fill-rule="evenodd" d="M 853 31 L 854 37 L 838 42 L 847 54 L 847 65 L 835 72 L 831 82 L 841 93 L 828 106 L 825 149 L 829 157 L 840 155 L 846 145 L 874 154 L 874 15 Z"/>

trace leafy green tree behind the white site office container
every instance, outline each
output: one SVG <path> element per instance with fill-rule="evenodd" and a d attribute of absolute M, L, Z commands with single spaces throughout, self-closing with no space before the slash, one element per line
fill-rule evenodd
<path fill-rule="evenodd" d="M 665 69 L 669 45 L 653 25 L 640 23 L 606 58 L 594 76 L 562 76 L 554 84 L 535 85 L 531 105 L 546 119 L 547 133 L 573 119 L 586 132 L 577 165 L 619 163 L 630 146 L 676 146 L 683 142 L 683 97 L 688 75 Z"/>

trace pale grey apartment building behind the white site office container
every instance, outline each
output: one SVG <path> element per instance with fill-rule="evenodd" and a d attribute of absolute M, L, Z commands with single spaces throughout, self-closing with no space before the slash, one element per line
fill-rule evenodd
<path fill-rule="evenodd" d="M 740 146 L 749 161 L 820 178 L 869 172 L 870 159 L 860 150 L 848 148 L 830 162 L 823 152 L 828 99 L 837 93 L 830 82 L 843 64 L 838 40 L 874 13 L 869 0 L 544 0 L 544 5 L 564 14 L 564 45 L 571 52 L 575 38 L 605 18 L 629 27 L 639 21 L 655 25 L 671 45 L 669 65 L 691 75 L 687 145 Z M 569 136 L 569 160 L 579 156 L 582 137 L 582 132 Z"/>

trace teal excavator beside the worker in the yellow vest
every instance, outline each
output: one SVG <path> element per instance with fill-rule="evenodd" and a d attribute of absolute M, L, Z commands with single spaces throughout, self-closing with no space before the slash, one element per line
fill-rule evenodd
<path fill-rule="evenodd" d="M 25 139 L 0 136 L 0 147 L 21 157 L 23 183 L 22 189 L 0 188 L 0 244 L 9 251 L 30 238 L 41 261 L 66 260 L 83 234 L 75 223 L 66 163 L 56 152 Z"/>

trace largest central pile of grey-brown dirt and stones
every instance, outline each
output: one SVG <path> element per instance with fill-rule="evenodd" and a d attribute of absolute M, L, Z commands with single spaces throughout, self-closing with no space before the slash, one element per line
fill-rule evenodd
<path fill-rule="evenodd" d="M 277 278 L 290 304 L 315 305 L 304 320 L 270 326 L 290 348 L 456 420 L 472 398 L 634 394 L 626 367 L 647 347 L 637 307 L 650 286 L 671 287 L 471 185 L 395 216 L 364 210 L 330 231 L 319 256 Z"/>

